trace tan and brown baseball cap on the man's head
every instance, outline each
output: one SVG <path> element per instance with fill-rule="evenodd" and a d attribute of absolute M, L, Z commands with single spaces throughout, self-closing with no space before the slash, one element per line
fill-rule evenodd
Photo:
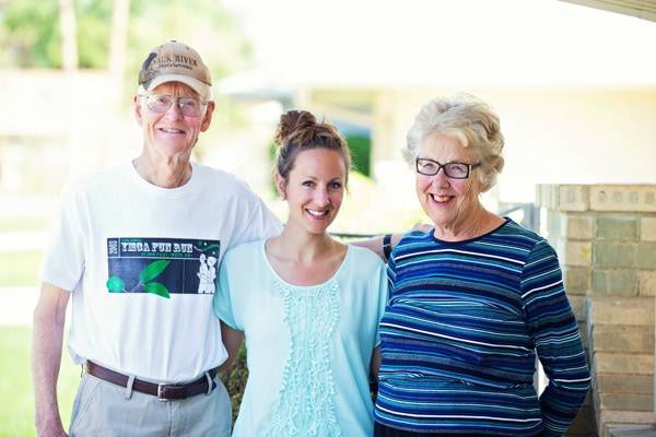
<path fill-rule="evenodd" d="M 139 72 L 139 92 L 150 91 L 166 82 L 181 82 L 203 101 L 212 101 L 212 78 L 198 51 L 186 44 L 171 40 L 151 50 Z"/>

